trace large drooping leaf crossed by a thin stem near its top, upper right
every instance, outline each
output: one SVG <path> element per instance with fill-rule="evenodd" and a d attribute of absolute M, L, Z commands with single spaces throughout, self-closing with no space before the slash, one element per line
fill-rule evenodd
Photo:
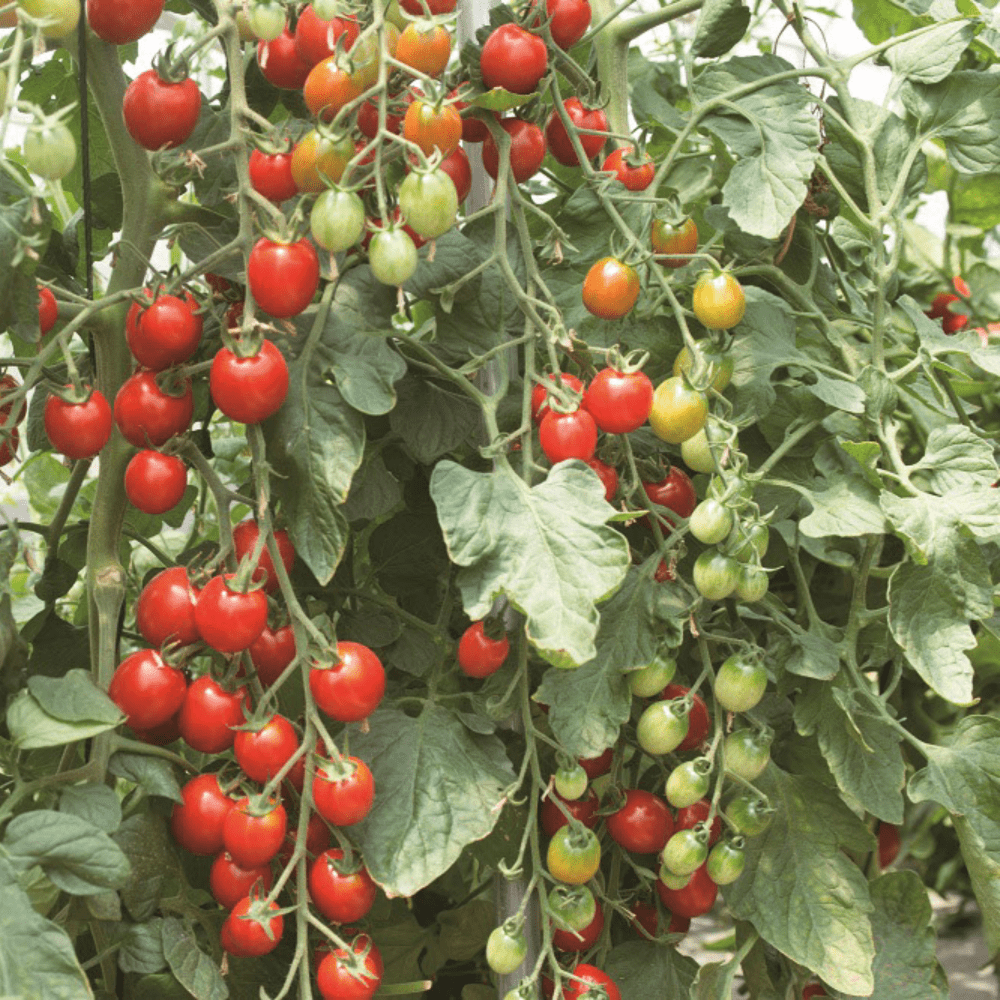
<path fill-rule="evenodd" d="M 792 68 L 776 56 L 737 57 L 710 66 L 693 80 L 692 90 L 704 104 Z M 719 108 L 702 119 L 737 158 L 723 185 L 722 203 L 743 232 L 777 239 L 805 200 L 819 155 L 809 92 L 789 80 L 730 103 L 738 110 Z"/>

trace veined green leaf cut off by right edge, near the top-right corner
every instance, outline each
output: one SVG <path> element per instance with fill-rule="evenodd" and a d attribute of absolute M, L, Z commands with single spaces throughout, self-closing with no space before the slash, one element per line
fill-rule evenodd
<path fill-rule="evenodd" d="M 973 70 L 934 84 L 906 83 L 903 106 L 928 139 L 942 139 L 948 160 L 968 174 L 987 173 L 1000 160 L 1000 80 Z"/>

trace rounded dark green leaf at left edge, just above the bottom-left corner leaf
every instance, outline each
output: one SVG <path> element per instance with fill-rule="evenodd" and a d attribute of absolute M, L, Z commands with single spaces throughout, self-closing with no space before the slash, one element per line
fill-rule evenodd
<path fill-rule="evenodd" d="M 7 826 L 3 846 L 16 868 L 41 865 L 60 889 L 74 896 L 118 889 L 130 873 L 128 858 L 103 830 L 51 809 L 15 816 Z"/>

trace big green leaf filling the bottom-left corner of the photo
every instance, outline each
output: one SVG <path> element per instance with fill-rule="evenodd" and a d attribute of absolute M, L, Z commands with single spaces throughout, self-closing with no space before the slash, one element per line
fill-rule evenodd
<path fill-rule="evenodd" d="M 39 916 L 0 859 L 0 995 L 13 1000 L 93 1000 L 73 942 Z"/>

